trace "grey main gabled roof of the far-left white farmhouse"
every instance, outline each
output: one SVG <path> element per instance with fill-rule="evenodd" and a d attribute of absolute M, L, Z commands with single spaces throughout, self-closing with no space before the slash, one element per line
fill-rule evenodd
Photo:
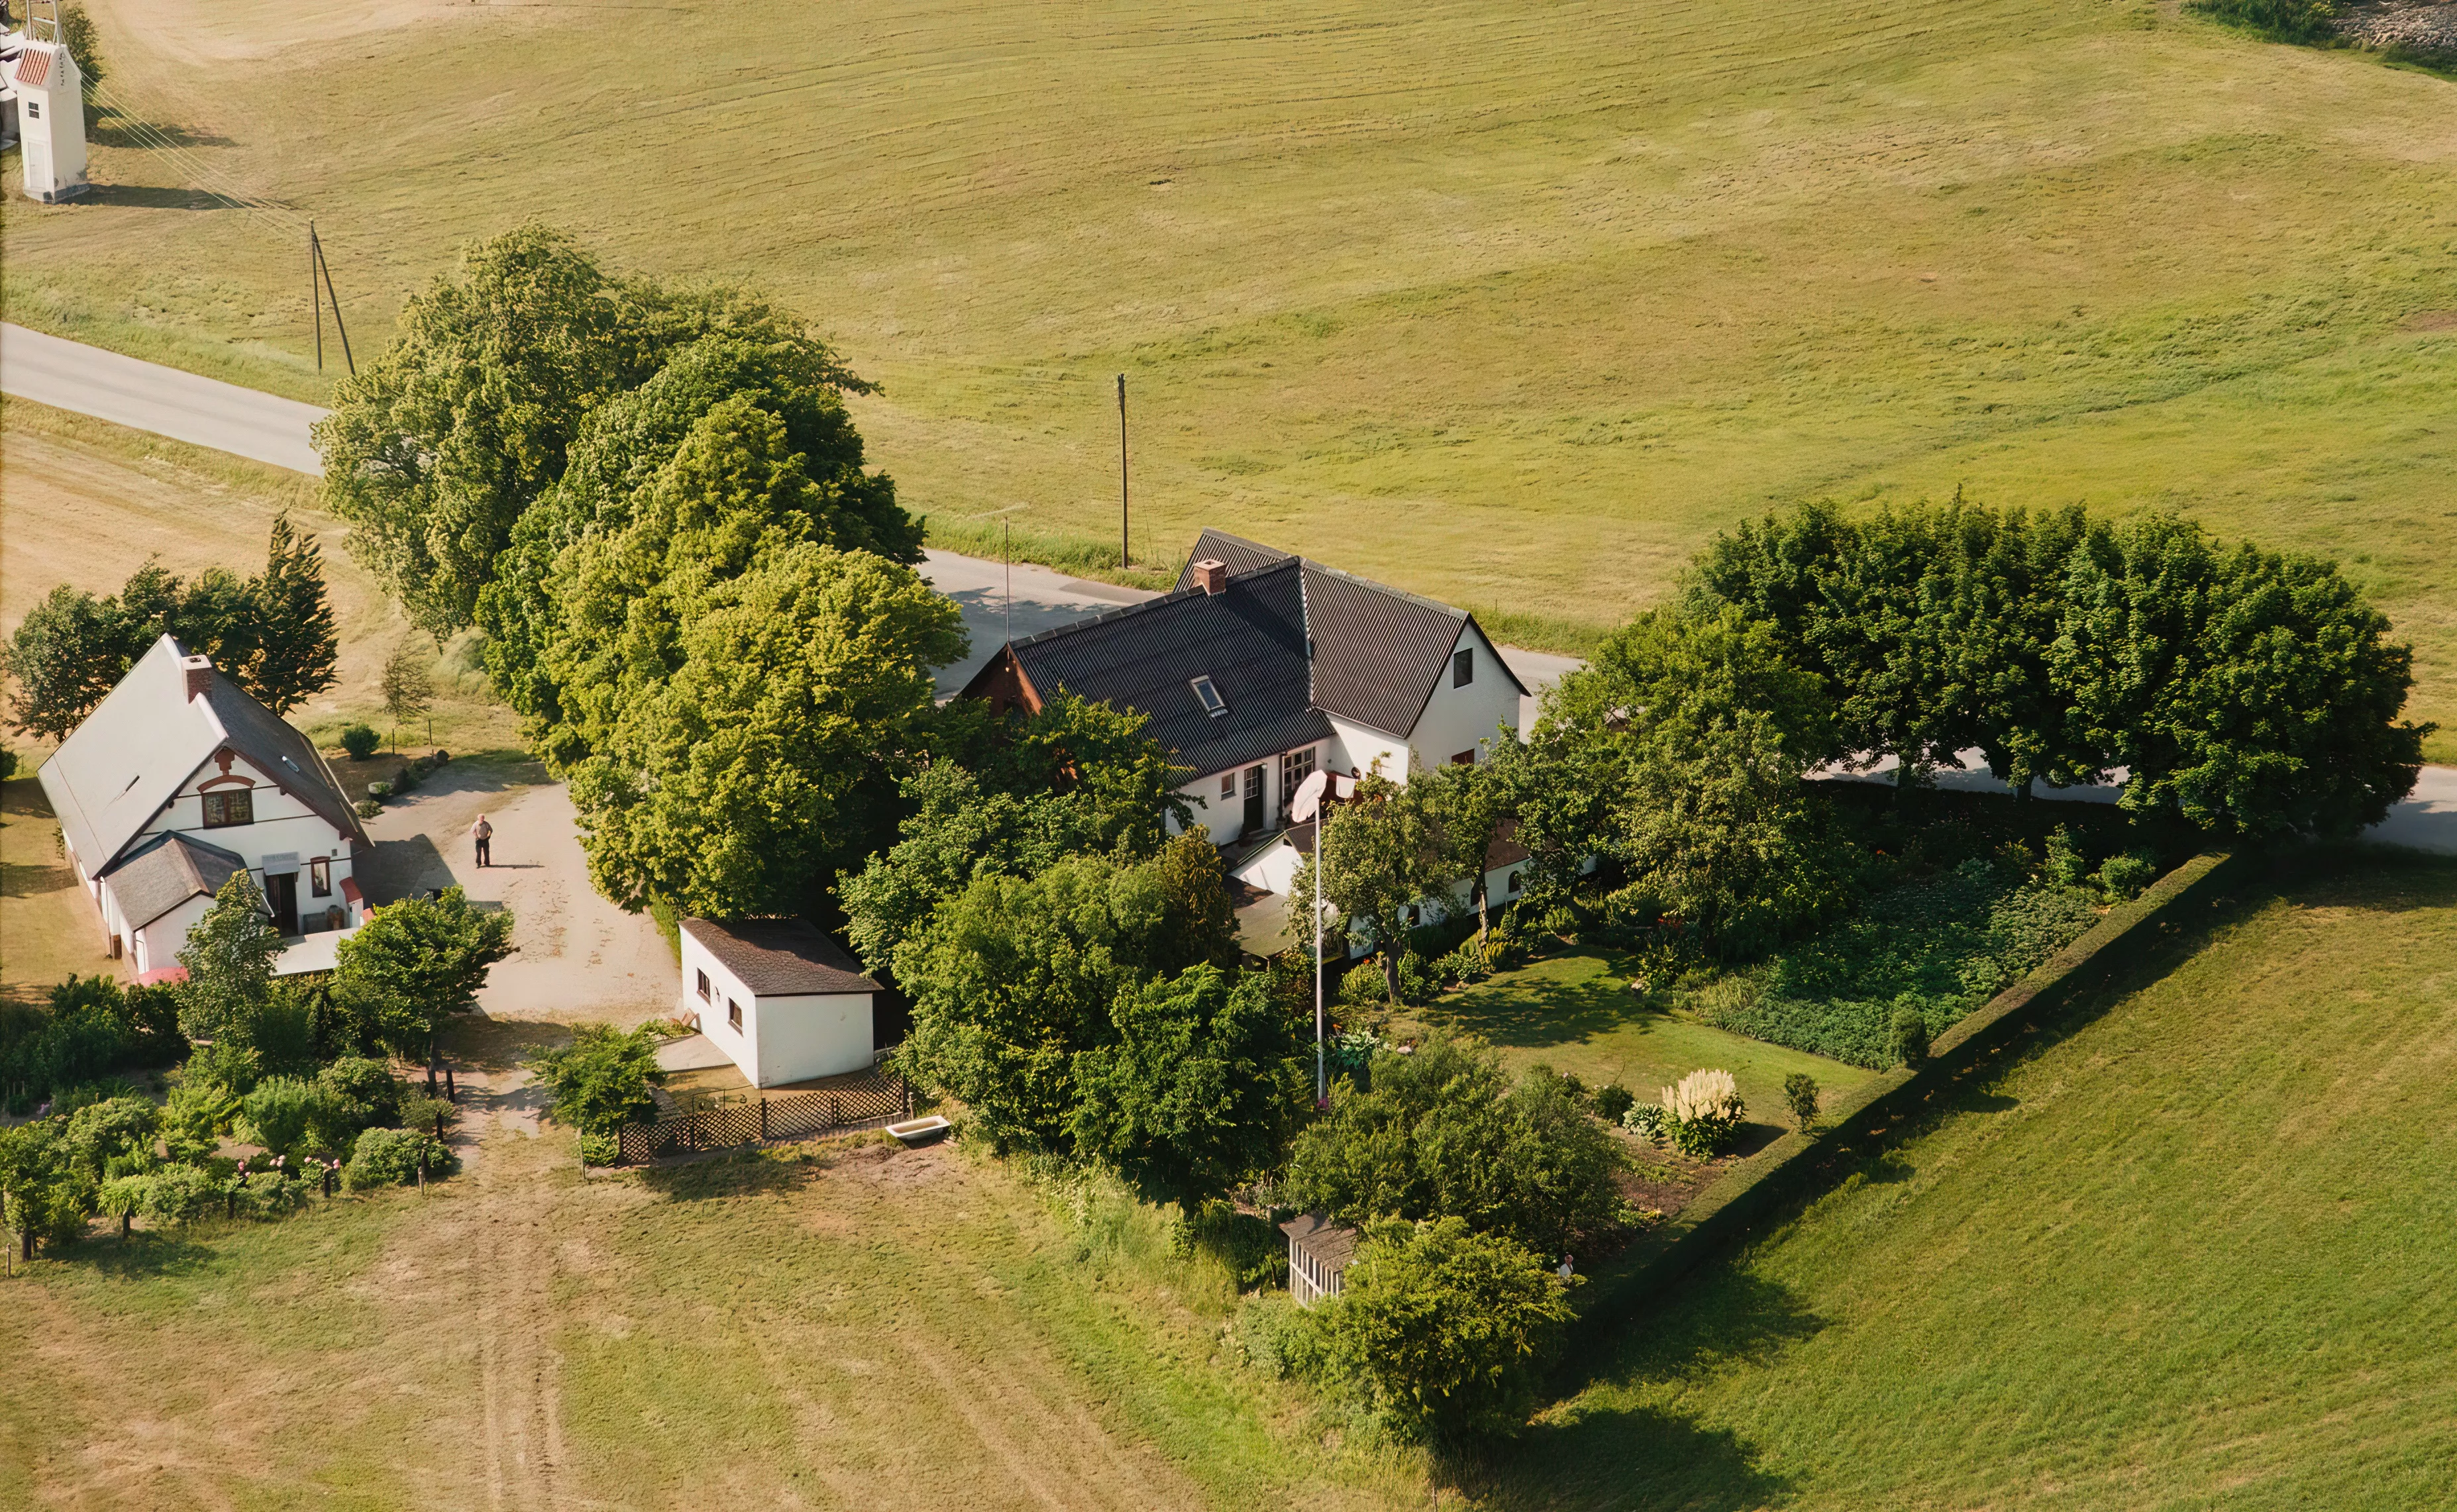
<path fill-rule="evenodd" d="M 219 670 L 187 695 L 187 658 L 162 636 L 42 763 L 42 793 L 88 876 L 111 871 L 214 751 L 229 746 L 354 844 L 366 842 L 322 751 Z"/>

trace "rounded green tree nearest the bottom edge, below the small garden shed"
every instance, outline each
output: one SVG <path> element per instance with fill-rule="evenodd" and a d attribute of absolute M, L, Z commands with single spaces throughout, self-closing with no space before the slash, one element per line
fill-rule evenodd
<path fill-rule="evenodd" d="M 1334 1370 L 1410 1438 L 1518 1433 L 1572 1311 L 1543 1257 L 1457 1217 L 1378 1225 L 1324 1311 Z"/>

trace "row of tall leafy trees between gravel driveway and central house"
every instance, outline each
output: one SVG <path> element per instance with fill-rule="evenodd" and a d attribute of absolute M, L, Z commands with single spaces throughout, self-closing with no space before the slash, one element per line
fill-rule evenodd
<path fill-rule="evenodd" d="M 966 636 L 848 393 L 774 304 L 528 226 L 418 295 L 317 427 L 351 552 L 437 638 L 486 631 L 627 908 L 823 908 L 894 837 Z"/>

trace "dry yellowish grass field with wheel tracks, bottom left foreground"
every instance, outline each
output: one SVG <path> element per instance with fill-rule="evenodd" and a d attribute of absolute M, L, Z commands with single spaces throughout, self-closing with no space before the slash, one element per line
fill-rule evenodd
<path fill-rule="evenodd" d="M 951 1146 L 582 1178 L 568 1134 L 491 1129 L 425 1198 L 10 1281 L 44 1389 L 0 1402 L 0 1505 L 1425 1505 L 1216 1365 L 1224 1276 L 1165 1249 Z"/>

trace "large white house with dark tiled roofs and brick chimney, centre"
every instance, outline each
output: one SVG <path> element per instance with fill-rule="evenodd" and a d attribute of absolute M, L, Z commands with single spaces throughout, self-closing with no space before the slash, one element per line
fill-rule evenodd
<path fill-rule="evenodd" d="M 1486 761 L 1523 739 L 1528 700 L 1474 614 L 1221 530 L 1201 533 L 1167 596 L 1010 641 L 963 692 L 1039 709 L 1059 690 L 1147 714 L 1194 768 L 1177 793 L 1228 876 L 1283 898 L 1312 847 L 1312 825 L 1287 822 L 1307 776 L 1405 783 Z M 1516 896 L 1521 862 L 1506 839 L 1486 857 L 1494 901 Z M 1455 901 L 1467 896 L 1462 881 Z"/>

